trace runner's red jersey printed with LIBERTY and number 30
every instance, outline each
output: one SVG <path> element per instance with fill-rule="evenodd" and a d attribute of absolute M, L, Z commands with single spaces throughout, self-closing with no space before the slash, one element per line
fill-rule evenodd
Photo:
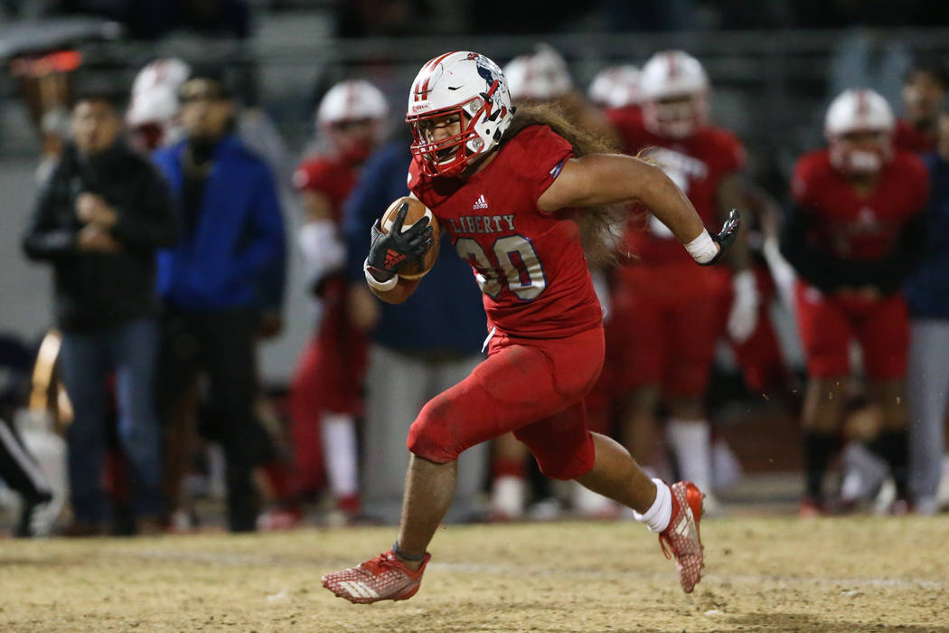
<path fill-rule="evenodd" d="M 417 161 L 409 168 L 409 189 L 471 263 L 488 326 L 508 335 L 560 338 L 602 321 L 579 226 L 537 207 L 572 154 L 549 126 L 530 125 L 467 181 L 424 177 Z"/>

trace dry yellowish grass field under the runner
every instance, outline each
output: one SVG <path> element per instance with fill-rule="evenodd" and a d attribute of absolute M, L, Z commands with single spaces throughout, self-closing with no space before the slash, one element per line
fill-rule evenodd
<path fill-rule="evenodd" d="M 421 590 L 320 586 L 391 529 L 0 542 L 0 631 L 949 631 L 949 521 L 706 520 L 692 595 L 628 523 L 439 531 Z"/>

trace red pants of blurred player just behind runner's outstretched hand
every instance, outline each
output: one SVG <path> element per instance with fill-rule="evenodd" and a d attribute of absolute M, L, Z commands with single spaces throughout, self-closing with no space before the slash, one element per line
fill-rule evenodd
<path fill-rule="evenodd" d="M 708 384 L 728 301 L 727 270 L 692 262 L 618 270 L 607 363 L 620 392 L 650 384 L 700 396 Z"/>

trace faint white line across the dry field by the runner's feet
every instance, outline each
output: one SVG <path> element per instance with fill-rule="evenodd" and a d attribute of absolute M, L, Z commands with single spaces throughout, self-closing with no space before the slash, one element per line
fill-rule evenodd
<path fill-rule="evenodd" d="M 223 554 L 209 551 L 168 551 L 164 549 L 139 549 L 136 551 L 113 551 L 102 558 L 143 558 L 147 560 L 177 561 L 180 563 L 212 563 L 225 566 L 253 565 L 261 567 L 331 567 L 326 560 L 301 560 L 299 558 L 282 558 L 280 556 L 257 556 L 253 554 Z M 352 563 L 352 561 L 347 561 Z M 339 561 L 340 564 L 345 564 Z M 430 563 L 429 568 L 445 569 L 448 571 L 463 571 L 469 573 L 491 573 L 498 575 L 517 576 L 572 576 L 601 580 L 657 580 L 675 576 L 675 568 L 669 568 L 669 573 L 642 573 L 636 571 L 614 572 L 598 571 L 595 569 L 563 569 L 523 567 L 517 565 L 476 565 L 469 563 Z M 780 585 L 797 586 L 833 586 L 845 585 L 848 587 L 895 587 L 895 588 L 924 588 L 949 589 L 949 581 L 937 580 L 906 580 L 903 578 L 835 578 L 832 576 L 782 576 L 776 574 L 739 574 L 736 576 L 722 576 L 715 573 L 702 575 L 702 583 L 741 583 L 755 585 L 761 583 L 777 583 Z"/>

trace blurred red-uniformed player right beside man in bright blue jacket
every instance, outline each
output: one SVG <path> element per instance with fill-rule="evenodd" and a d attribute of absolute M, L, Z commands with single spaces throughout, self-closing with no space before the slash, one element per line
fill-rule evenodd
<path fill-rule="evenodd" d="M 346 309 L 339 224 L 360 167 L 381 138 L 387 109 L 382 93 L 368 82 L 334 85 L 316 115 L 329 152 L 305 160 L 293 174 L 307 211 L 298 235 L 307 283 L 323 306 L 290 384 L 296 488 L 313 492 L 326 470 L 329 492 L 347 516 L 359 509 L 355 424 L 363 406 L 366 341 Z"/>

